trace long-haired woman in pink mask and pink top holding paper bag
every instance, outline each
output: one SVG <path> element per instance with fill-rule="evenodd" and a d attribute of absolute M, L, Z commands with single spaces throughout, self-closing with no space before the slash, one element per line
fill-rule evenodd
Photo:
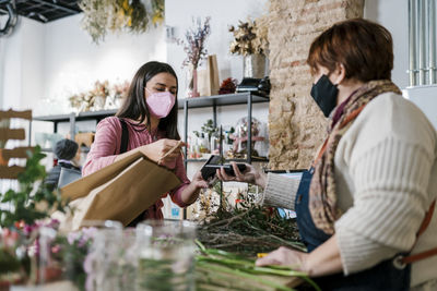
<path fill-rule="evenodd" d="M 173 202 L 180 207 L 192 204 L 200 189 L 208 184 L 200 172 L 190 182 L 184 168 L 180 154 L 184 143 L 180 142 L 177 131 L 177 76 L 170 65 L 155 61 L 142 65 L 135 73 L 128 96 L 116 117 L 106 118 L 97 124 L 83 175 L 141 151 L 149 159 L 174 170 L 180 179 L 181 184 L 169 192 Z M 125 146 L 121 141 L 123 126 L 128 132 Z M 163 197 L 166 195 L 163 193 Z M 146 218 L 162 219 L 162 207 L 163 202 L 156 201 L 133 223 Z"/>

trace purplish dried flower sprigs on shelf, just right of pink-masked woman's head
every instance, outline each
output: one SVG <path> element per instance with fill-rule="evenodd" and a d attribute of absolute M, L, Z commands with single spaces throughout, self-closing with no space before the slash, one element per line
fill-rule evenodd
<path fill-rule="evenodd" d="M 196 23 L 192 20 L 192 27 L 185 34 L 186 41 L 176 39 L 176 43 L 184 46 L 184 51 L 187 52 L 187 58 L 184 60 L 182 66 L 192 65 L 196 70 L 208 56 L 204 43 L 211 34 L 210 20 L 211 17 L 206 17 L 203 25 L 200 19 Z"/>

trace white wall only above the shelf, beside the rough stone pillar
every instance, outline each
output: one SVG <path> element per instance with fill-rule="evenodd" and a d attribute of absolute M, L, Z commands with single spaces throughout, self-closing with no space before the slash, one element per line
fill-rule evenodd
<path fill-rule="evenodd" d="M 206 39 L 206 50 L 210 54 L 217 56 L 220 80 L 233 76 L 241 80 L 243 60 L 238 54 L 229 53 L 229 44 L 233 34 L 229 25 L 238 25 L 238 21 L 247 21 L 267 14 L 268 0 L 166 0 L 165 23 L 175 27 L 175 37 L 185 40 L 185 32 L 192 26 L 192 19 L 201 17 L 202 23 L 206 16 L 211 16 L 211 35 Z M 170 43 L 167 47 L 167 61 L 177 70 L 179 76 L 184 76 L 181 64 L 186 53 L 181 46 Z M 181 87 L 185 82 L 181 80 Z"/>

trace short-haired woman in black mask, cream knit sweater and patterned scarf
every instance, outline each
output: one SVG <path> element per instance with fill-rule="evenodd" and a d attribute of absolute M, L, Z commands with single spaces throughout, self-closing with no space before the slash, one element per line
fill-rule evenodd
<path fill-rule="evenodd" d="M 390 81 L 390 33 L 338 23 L 314 40 L 307 63 L 311 96 L 330 119 L 311 169 L 300 181 L 250 166 L 234 167 L 235 178 L 217 171 L 264 187 L 265 205 L 296 210 L 309 253 L 281 247 L 257 265 L 300 269 L 322 290 L 437 290 L 437 214 L 417 237 L 435 208 L 437 135 Z"/>

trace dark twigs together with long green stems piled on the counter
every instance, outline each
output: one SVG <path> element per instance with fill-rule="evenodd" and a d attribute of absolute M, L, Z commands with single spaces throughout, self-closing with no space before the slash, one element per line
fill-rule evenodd
<path fill-rule="evenodd" d="M 197 290 L 320 290 L 304 272 L 257 267 L 257 254 L 280 246 L 306 252 L 295 219 L 249 202 L 209 215 L 198 227 Z"/>

